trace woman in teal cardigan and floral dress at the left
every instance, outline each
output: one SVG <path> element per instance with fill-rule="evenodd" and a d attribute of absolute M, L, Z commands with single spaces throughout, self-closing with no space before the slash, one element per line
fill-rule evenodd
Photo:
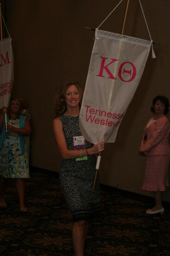
<path fill-rule="evenodd" d="M 7 107 L 2 108 L 0 115 L 0 206 L 6 207 L 4 195 L 4 178 L 16 179 L 16 189 L 19 195 L 20 211 L 27 209 L 24 203 L 24 178 L 29 178 L 29 163 L 24 136 L 31 133 L 30 121 L 26 116 L 19 115 L 20 103 L 12 98 L 7 115 L 7 132 L 5 114 Z"/>

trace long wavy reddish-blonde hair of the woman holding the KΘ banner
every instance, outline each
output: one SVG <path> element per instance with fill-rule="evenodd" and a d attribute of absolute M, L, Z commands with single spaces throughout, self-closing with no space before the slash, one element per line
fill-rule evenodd
<path fill-rule="evenodd" d="M 80 93 L 80 108 L 81 108 L 81 103 L 82 103 L 82 96 L 83 96 L 83 91 L 82 88 L 79 85 L 79 82 L 77 81 L 68 81 L 63 83 L 63 85 L 61 86 L 61 88 L 59 89 L 59 91 L 57 92 L 55 99 L 54 99 L 54 117 L 56 118 L 59 115 L 62 115 L 66 112 L 67 110 L 67 106 L 65 103 L 65 95 L 66 95 L 66 91 L 67 89 L 71 86 L 71 85 L 76 85 L 79 93 Z"/>

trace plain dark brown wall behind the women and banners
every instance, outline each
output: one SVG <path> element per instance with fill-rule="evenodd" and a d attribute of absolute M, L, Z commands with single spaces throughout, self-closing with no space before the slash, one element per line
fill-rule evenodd
<path fill-rule="evenodd" d="M 6 21 L 13 36 L 13 95 L 25 96 L 31 112 L 31 165 L 58 171 L 61 157 L 52 131 L 53 97 L 58 86 L 75 79 L 85 85 L 94 32 L 119 0 L 6 0 Z M 150 105 L 156 94 L 170 99 L 170 0 L 142 0 L 157 59 L 149 55 L 144 74 L 121 123 L 115 143 L 101 160 L 101 183 L 144 195 L 145 159 L 138 155 Z M 120 33 L 126 1 L 101 26 Z M 130 1 L 125 33 L 149 39 L 136 0 Z M 170 115 L 168 116 L 170 117 Z M 165 200 L 170 202 L 170 189 Z"/>

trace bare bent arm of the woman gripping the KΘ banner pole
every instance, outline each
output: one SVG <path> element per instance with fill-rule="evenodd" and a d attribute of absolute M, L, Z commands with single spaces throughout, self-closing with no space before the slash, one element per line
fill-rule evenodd
<path fill-rule="evenodd" d="M 86 155 L 94 155 L 98 154 L 101 151 L 104 150 L 104 145 L 105 142 L 102 140 L 96 144 L 92 148 L 88 148 L 88 154 L 86 149 L 82 150 L 69 150 L 67 148 L 67 143 L 63 134 L 63 128 L 62 128 L 62 123 L 59 118 L 54 119 L 53 121 L 53 129 L 54 129 L 54 135 L 56 138 L 57 146 L 60 151 L 60 154 L 64 159 L 70 159 L 70 158 L 77 158 Z"/>

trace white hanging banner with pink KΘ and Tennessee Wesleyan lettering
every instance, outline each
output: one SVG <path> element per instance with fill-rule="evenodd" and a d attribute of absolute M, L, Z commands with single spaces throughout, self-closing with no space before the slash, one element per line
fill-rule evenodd
<path fill-rule="evenodd" d="M 151 41 L 96 30 L 80 113 L 90 142 L 114 142 L 138 87 Z"/>

